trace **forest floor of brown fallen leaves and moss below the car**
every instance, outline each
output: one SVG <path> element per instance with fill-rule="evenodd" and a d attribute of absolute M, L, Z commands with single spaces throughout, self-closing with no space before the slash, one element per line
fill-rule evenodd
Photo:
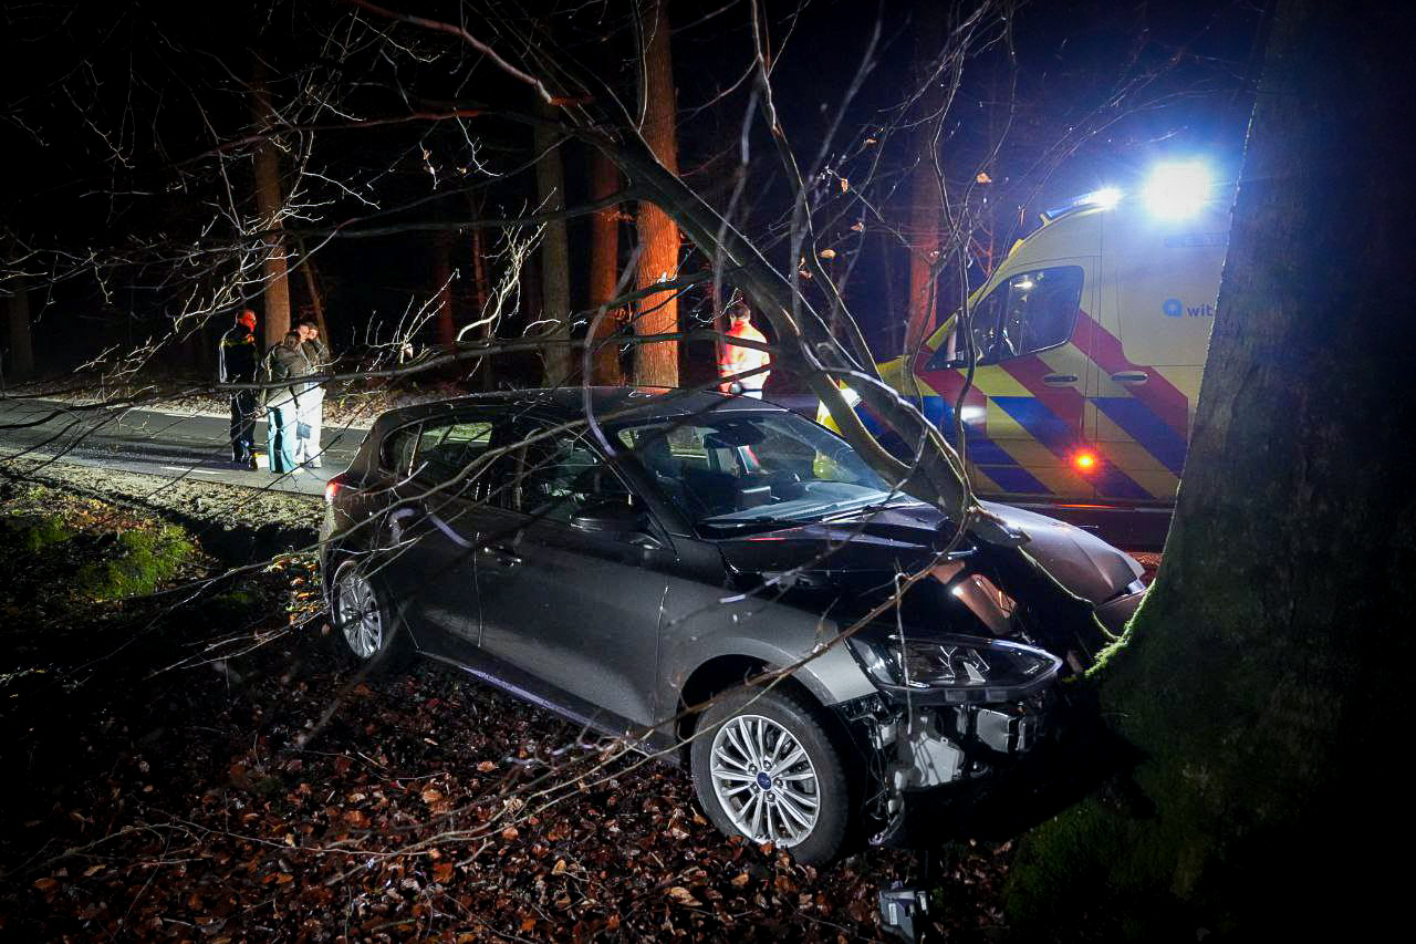
<path fill-rule="evenodd" d="M 725 839 L 681 770 L 452 669 L 337 668 L 317 500 L 0 488 L 0 937 L 878 940 L 915 877 Z M 930 940 L 1003 934 L 1010 843 L 940 859 Z"/>

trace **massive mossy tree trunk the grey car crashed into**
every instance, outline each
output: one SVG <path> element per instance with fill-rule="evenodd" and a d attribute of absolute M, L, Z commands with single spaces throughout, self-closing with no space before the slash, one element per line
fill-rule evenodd
<path fill-rule="evenodd" d="M 1416 200 L 1409 20 L 1280 3 L 1175 523 L 1093 673 L 1141 751 L 1133 799 L 1027 841 L 1008 897 L 1024 928 L 1080 913 L 1092 940 L 1355 940 L 1398 920 L 1408 869 L 1382 863 L 1412 836 L 1416 332 L 1392 278 Z"/>

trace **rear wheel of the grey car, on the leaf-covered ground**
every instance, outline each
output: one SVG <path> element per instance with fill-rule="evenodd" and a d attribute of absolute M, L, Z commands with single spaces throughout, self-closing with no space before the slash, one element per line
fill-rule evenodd
<path fill-rule="evenodd" d="M 337 658 L 365 672 L 405 668 L 412 658 L 408 632 L 392 607 L 388 585 L 368 573 L 368 557 L 346 557 L 330 581 L 331 644 Z"/>

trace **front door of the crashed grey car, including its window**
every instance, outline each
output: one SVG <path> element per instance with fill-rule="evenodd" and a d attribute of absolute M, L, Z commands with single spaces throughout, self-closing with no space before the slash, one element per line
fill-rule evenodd
<path fill-rule="evenodd" d="M 481 648 L 593 706 L 602 727 L 649 724 L 663 707 L 653 692 L 670 539 L 651 522 L 622 533 L 572 523 L 588 505 L 643 507 L 583 438 L 542 438 L 518 459 L 479 549 Z"/>

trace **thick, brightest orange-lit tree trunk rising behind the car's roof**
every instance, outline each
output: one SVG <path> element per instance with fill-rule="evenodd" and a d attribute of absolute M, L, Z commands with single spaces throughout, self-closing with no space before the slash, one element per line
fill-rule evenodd
<path fill-rule="evenodd" d="M 668 48 L 668 13 L 663 0 L 643 0 L 640 33 L 644 44 L 644 142 L 668 173 L 678 174 L 674 65 Z M 678 225 L 657 206 L 639 204 L 639 269 L 636 288 L 678 278 Z M 649 295 L 639 303 L 636 335 L 678 330 L 678 299 L 673 292 Z M 678 386 L 678 343 L 634 346 L 634 383 Z"/>

